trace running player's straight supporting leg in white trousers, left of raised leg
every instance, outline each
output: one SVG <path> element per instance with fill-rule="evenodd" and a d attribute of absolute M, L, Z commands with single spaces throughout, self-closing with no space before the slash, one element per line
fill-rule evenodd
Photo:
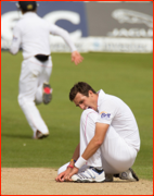
<path fill-rule="evenodd" d="M 37 131 L 48 135 L 48 127 L 35 106 L 38 76 L 42 71 L 41 64 L 36 64 L 35 62 L 35 58 L 30 58 L 22 63 L 18 103 L 34 131 L 34 136 L 36 136 Z"/>

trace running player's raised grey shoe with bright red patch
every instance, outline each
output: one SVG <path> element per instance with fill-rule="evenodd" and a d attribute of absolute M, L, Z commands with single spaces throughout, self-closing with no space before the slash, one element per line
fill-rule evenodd
<path fill-rule="evenodd" d="M 42 101 L 44 105 L 48 105 L 52 99 L 52 88 L 49 83 L 43 83 L 43 95 Z"/>

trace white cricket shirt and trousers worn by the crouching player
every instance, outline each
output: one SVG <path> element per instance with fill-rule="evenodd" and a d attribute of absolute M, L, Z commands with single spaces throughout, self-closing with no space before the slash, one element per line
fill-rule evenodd
<path fill-rule="evenodd" d="M 80 156 L 94 136 L 95 123 L 110 124 L 105 139 L 87 166 L 103 167 L 105 173 L 120 173 L 134 162 L 140 149 L 139 130 L 130 108 L 119 98 L 99 91 L 98 112 L 87 109 L 80 118 Z M 59 169 L 59 173 L 68 163 Z M 82 171 L 85 166 L 79 170 Z"/>

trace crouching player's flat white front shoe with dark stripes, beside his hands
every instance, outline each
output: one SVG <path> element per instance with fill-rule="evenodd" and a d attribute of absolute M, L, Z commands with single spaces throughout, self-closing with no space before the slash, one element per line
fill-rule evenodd
<path fill-rule="evenodd" d="M 72 180 L 77 183 L 101 183 L 105 181 L 105 173 L 104 170 L 89 167 L 84 172 L 73 175 Z"/>

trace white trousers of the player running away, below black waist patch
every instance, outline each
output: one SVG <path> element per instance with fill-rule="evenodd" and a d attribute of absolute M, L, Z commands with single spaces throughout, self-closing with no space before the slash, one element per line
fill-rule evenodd
<path fill-rule="evenodd" d="M 49 82 L 52 72 L 51 57 L 46 62 L 40 62 L 35 57 L 26 59 L 22 63 L 20 76 L 18 103 L 34 131 L 49 133 L 48 127 L 42 120 L 36 103 L 42 102 L 42 85 Z"/>

